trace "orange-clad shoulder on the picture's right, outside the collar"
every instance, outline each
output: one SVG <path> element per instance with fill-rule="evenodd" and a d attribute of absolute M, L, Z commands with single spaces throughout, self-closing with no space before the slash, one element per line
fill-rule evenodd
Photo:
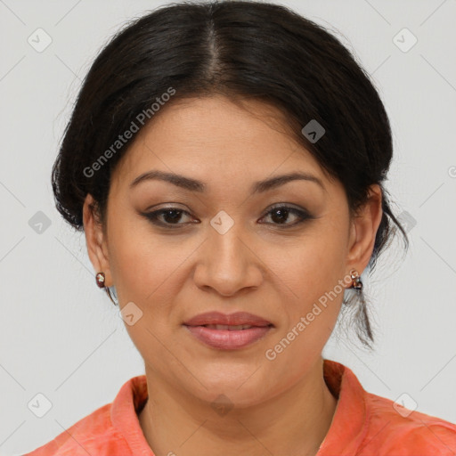
<path fill-rule="evenodd" d="M 411 409 L 391 399 L 367 393 L 368 430 L 360 455 L 454 456 L 456 425 Z"/>

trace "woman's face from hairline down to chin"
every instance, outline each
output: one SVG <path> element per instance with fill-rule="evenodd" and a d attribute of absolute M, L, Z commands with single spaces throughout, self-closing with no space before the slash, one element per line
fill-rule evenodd
<path fill-rule="evenodd" d="M 313 370 L 351 285 L 347 274 L 369 262 L 380 220 L 379 199 L 350 220 L 343 187 L 272 123 L 279 113 L 261 102 L 248 107 L 219 96 L 166 106 L 112 175 L 105 235 L 90 195 L 84 211 L 89 256 L 120 307 L 130 305 L 126 330 L 148 377 L 239 406 Z M 186 180 L 138 181 L 151 171 Z M 311 177 L 271 181 L 290 173 Z M 214 342 L 224 330 L 217 338 L 215 329 L 184 324 L 212 311 L 248 312 L 269 326 L 237 330 L 224 345 Z M 204 331 L 208 341 L 196 336 Z"/>

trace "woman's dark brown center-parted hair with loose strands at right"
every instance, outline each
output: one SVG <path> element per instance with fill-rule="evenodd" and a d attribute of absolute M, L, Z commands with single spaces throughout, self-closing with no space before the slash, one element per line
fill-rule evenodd
<path fill-rule="evenodd" d="M 165 98 L 170 88 L 174 93 Z M 153 104 L 211 94 L 234 102 L 256 99 L 280 110 L 297 143 L 343 184 L 351 215 L 366 201 L 368 187 L 379 183 L 383 216 L 370 269 L 396 231 L 392 223 L 408 247 L 382 186 L 392 135 L 370 77 L 325 28 L 285 6 L 256 1 L 167 4 L 110 39 L 85 77 L 53 166 L 61 216 L 83 230 L 90 193 L 105 226 L 111 171 L 132 142 L 120 144 L 118 135 L 152 121 Z M 302 131 L 310 121 L 325 130 L 316 142 Z M 344 302 L 355 309 L 358 338 L 371 346 L 362 293 Z"/>

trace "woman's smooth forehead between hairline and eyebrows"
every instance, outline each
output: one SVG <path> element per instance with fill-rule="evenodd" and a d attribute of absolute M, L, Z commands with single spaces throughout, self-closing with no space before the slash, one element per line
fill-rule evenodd
<path fill-rule="evenodd" d="M 290 133 L 283 113 L 264 102 L 239 106 L 219 95 L 186 99 L 161 108 L 136 134 L 118 168 L 123 175 L 157 165 L 273 173 L 286 162 L 322 175 L 318 162 Z"/>

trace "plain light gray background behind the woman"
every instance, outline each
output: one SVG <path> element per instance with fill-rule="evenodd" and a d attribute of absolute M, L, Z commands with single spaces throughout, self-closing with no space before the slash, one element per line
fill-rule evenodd
<path fill-rule="evenodd" d="M 164 3 L 0 0 L 2 455 L 45 444 L 143 373 L 118 310 L 95 285 L 84 235 L 53 206 L 50 173 L 94 55 L 126 20 Z M 410 396 L 419 411 L 456 422 L 456 1 L 281 3 L 337 34 L 371 74 L 394 130 L 387 190 L 409 221 L 405 259 L 396 242 L 364 278 L 376 350 L 351 334 L 353 343 L 331 337 L 323 355 L 371 393 L 406 393 L 406 404 Z M 37 28 L 52 38 L 42 52 L 28 43 Z M 418 40 L 409 50 L 403 28 Z M 39 227 L 39 211 L 49 226 Z M 28 409 L 38 393 L 53 404 L 43 418 Z"/>

